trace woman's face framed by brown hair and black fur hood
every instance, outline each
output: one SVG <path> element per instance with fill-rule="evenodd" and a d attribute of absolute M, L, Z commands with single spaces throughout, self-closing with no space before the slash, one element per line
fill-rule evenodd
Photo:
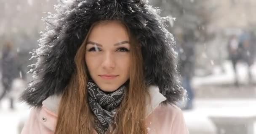
<path fill-rule="evenodd" d="M 99 23 L 86 43 L 85 62 L 93 81 L 106 92 L 117 90 L 129 79 L 128 31 L 120 22 Z"/>

